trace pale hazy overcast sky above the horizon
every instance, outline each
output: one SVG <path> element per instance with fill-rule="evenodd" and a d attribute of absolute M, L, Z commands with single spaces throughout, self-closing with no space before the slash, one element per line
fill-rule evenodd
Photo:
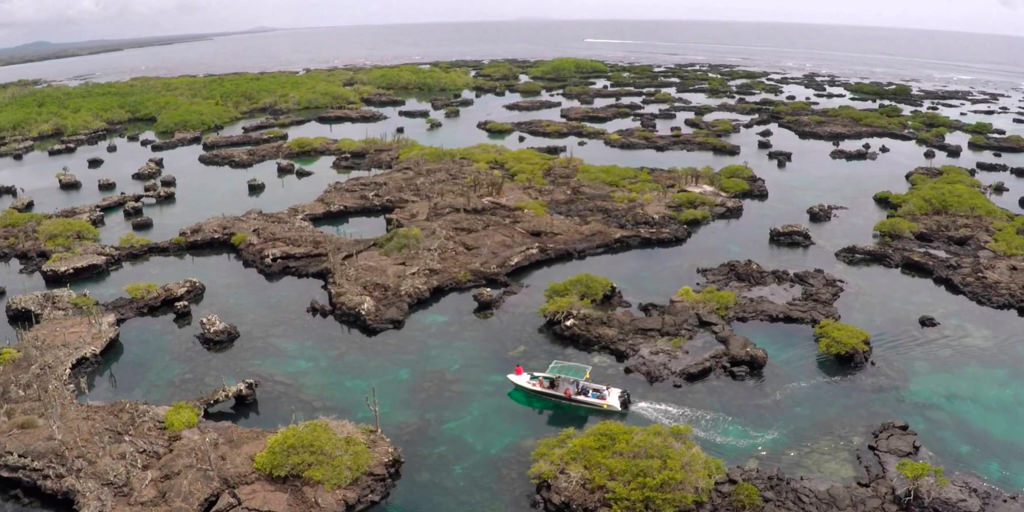
<path fill-rule="evenodd" d="M 0 0 L 0 46 L 253 27 L 522 17 L 795 22 L 1024 36 L 1024 0 Z"/>

